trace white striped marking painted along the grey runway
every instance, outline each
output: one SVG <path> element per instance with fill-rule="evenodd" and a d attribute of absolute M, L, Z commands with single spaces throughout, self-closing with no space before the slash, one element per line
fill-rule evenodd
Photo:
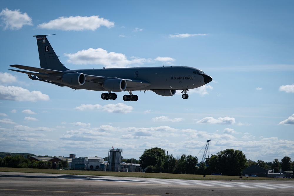
<path fill-rule="evenodd" d="M 68 178 L 67 178 L 68 179 Z M 253 183 L 253 182 L 233 182 L 233 181 L 210 181 L 210 180 L 177 180 L 159 178 L 135 178 L 135 177 L 99 177 L 83 176 L 81 178 L 70 178 L 76 180 L 102 180 L 116 182 L 136 182 L 136 183 L 155 183 L 173 185 L 193 185 L 193 186 L 212 186 L 212 187 L 238 187 L 238 188 L 258 188 L 258 189 L 294 189 L 294 185 Z"/>

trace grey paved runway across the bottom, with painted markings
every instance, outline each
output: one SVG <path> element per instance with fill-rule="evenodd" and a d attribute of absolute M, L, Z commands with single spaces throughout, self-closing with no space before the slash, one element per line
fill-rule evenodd
<path fill-rule="evenodd" d="M 175 180 L 0 172 L 0 195 L 294 195 L 294 180 Z"/>

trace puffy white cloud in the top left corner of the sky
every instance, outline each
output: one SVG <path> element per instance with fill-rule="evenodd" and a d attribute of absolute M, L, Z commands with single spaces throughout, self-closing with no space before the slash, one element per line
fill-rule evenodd
<path fill-rule="evenodd" d="M 32 26 L 32 19 L 27 13 L 22 14 L 19 9 L 9 10 L 2 9 L 0 12 L 1 20 L 5 24 L 4 30 L 19 30 L 24 25 Z"/>

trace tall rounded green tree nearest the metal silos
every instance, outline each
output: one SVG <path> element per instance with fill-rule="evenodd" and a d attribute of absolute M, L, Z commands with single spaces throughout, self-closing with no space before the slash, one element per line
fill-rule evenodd
<path fill-rule="evenodd" d="M 165 160 L 165 150 L 155 147 L 151 149 L 146 149 L 143 155 L 140 156 L 140 165 L 143 168 L 152 165 L 155 167 L 156 172 L 160 172 L 161 167 Z"/>

